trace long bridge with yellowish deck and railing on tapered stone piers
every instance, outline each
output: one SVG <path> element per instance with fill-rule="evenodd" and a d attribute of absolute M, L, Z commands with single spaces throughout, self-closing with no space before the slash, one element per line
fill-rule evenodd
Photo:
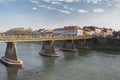
<path fill-rule="evenodd" d="M 7 44 L 5 56 L 0 61 L 12 67 L 22 67 L 23 61 L 19 59 L 16 49 L 16 43 L 19 42 L 43 42 L 41 51 L 39 52 L 42 56 L 58 57 L 55 53 L 54 42 L 64 41 L 61 50 L 65 51 L 77 51 L 74 44 L 74 40 L 88 40 L 92 36 L 0 36 L 0 42 Z"/>

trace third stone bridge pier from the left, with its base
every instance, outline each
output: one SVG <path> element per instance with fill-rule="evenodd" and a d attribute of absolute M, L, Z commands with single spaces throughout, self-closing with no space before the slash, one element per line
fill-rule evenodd
<path fill-rule="evenodd" d="M 63 43 L 63 47 L 60 50 L 69 51 L 69 52 L 78 51 L 75 47 L 74 40 L 65 40 Z"/>

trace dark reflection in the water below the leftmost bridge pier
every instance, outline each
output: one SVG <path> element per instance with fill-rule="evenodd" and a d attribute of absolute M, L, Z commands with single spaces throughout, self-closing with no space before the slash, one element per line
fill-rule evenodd
<path fill-rule="evenodd" d="M 18 68 L 6 67 L 7 70 L 7 80 L 17 80 Z"/>

